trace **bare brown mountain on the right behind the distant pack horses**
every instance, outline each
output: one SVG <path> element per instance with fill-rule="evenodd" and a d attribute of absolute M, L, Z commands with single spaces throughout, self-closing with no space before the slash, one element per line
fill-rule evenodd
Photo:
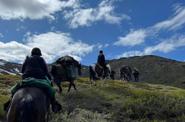
<path fill-rule="evenodd" d="M 116 79 L 119 79 L 120 68 L 128 65 L 140 71 L 140 81 L 185 88 L 185 62 L 148 55 L 114 59 L 109 64 L 116 71 Z"/>

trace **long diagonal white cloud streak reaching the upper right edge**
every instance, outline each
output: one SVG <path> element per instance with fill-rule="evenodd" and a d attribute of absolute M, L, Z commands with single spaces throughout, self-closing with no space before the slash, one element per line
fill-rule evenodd
<path fill-rule="evenodd" d="M 150 38 L 160 33 L 161 30 L 172 31 L 182 28 L 185 24 L 185 7 L 178 6 L 176 8 L 175 14 L 164 21 L 158 22 L 147 28 L 138 29 L 129 32 L 125 36 L 121 36 L 114 43 L 117 46 L 136 46 L 144 43 L 146 38 Z"/>

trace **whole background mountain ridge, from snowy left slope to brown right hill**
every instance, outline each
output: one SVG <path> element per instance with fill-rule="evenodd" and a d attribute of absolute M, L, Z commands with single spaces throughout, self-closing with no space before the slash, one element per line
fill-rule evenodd
<path fill-rule="evenodd" d="M 116 71 L 115 78 L 119 79 L 119 70 L 128 65 L 132 69 L 136 67 L 140 71 L 140 81 L 160 83 L 185 88 L 185 62 L 165 57 L 146 55 L 128 58 L 112 59 L 108 63 L 112 70 Z M 50 67 L 51 64 L 48 64 Z M 21 64 L 11 63 L 0 59 L 0 74 L 19 75 Z M 88 66 L 82 64 L 82 76 L 89 76 Z"/>

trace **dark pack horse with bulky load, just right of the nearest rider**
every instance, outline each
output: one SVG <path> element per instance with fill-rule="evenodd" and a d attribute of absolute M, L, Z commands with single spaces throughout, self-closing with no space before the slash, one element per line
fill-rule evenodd
<path fill-rule="evenodd" d="M 81 65 L 71 56 L 64 56 L 59 58 L 55 64 L 52 65 L 51 74 L 53 76 L 53 81 L 59 88 L 59 92 L 62 92 L 61 82 L 68 81 L 69 87 L 68 92 L 71 87 L 76 90 L 76 85 L 74 81 L 81 75 Z"/>

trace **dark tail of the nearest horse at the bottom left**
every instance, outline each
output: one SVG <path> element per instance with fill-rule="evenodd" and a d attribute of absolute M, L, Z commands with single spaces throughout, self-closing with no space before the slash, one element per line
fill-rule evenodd
<path fill-rule="evenodd" d="M 25 96 L 17 109 L 17 118 L 18 122 L 33 122 L 36 116 L 34 116 L 34 104 L 33 104 L 33 98 L 31 95 Z"/>

